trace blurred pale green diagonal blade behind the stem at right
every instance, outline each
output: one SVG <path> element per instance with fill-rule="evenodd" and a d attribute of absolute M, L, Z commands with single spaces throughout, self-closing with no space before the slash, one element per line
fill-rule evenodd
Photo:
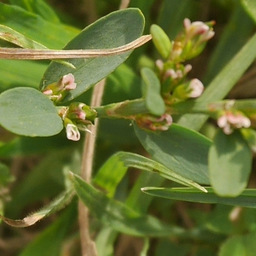
<path fill-rule="evenodd" d="M 204 93 L 195 101 L 197 103 L 214 102 L 224 98 L 233 88 L 241 75 L 247 70 L 256 56 L 256 34 L 245 44 L 235 57 L 222 69 L 218 76 L 207 86 Z M 199 130 L 205 123 L 206 114 L 184 114 L 178 124 Z"/>

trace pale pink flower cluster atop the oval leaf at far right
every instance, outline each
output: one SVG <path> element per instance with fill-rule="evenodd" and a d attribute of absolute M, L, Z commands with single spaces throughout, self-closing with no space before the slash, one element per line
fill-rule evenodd
<path fill-rule="evenodd" d="M 231 112 L 227 110 L 219 116 L 217 124 L 218 127 L 223 128 L 225 134 L 229 135 L 234 129 L 250 127 L 251 121 L 240 111 Z"/>

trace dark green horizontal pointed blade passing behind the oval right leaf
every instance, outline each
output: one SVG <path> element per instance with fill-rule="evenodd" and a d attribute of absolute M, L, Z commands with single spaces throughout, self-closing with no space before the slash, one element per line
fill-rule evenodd
<path fill-rule="evenodd" d="M 143 188 L 143 192 L 148 195 L 154 195 L 162 198 L 201 202 L 208 204 L 224 204 L 236 207 L 252 207 L 256 208 L 256 189 L 245 189 L 241 195 L 237 197 L 220 197 L 214 194 L 212 188 L 206 188 L 208 193 L 203 193 L 196 189 L 167 189 L 167 188 Z"/>

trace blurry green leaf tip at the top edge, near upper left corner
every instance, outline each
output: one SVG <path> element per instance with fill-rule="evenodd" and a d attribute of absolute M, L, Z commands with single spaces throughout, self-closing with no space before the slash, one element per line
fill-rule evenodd
<path fill-rule="evenodd" d="M 51 9 L 43 0 L 10 0 L 9 2 L 13 5 L 20 6 L 33 14 L 41 16 L 44 20 L 48 20 L 53 23 L 60 22 L 58 16 L 55 15 L 54 10 Z"/>

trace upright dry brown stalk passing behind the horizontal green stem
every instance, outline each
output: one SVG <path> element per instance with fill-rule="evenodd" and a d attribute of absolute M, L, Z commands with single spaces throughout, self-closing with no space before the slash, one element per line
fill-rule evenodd
<path fill-rule="evenodd" d="M 90 106 L 100 106 L 102 102 L 102 94 L 104 90 L 105 79 L 95 85 Z M 84 153 L 82 160 L 82 170 L 81 177 L 87 182 L 90 183 L 93 158 L 95 152 L 95 143 L 96 143 L 96 131 L 97 131 L 98 119 L 96 119 L 95 125 L 90 127 L 90 133 L 86 134 L 84 141 Z M 90 219 L 89 219 L 89 210 L 84 206 L 82 201 L 79 201 L 79 226 L 80 226 L 80 236 L 81 236 L 81 247 L 83 256 L 96 256 L 96 245 L 94 241 L 90 239 Z"/>

